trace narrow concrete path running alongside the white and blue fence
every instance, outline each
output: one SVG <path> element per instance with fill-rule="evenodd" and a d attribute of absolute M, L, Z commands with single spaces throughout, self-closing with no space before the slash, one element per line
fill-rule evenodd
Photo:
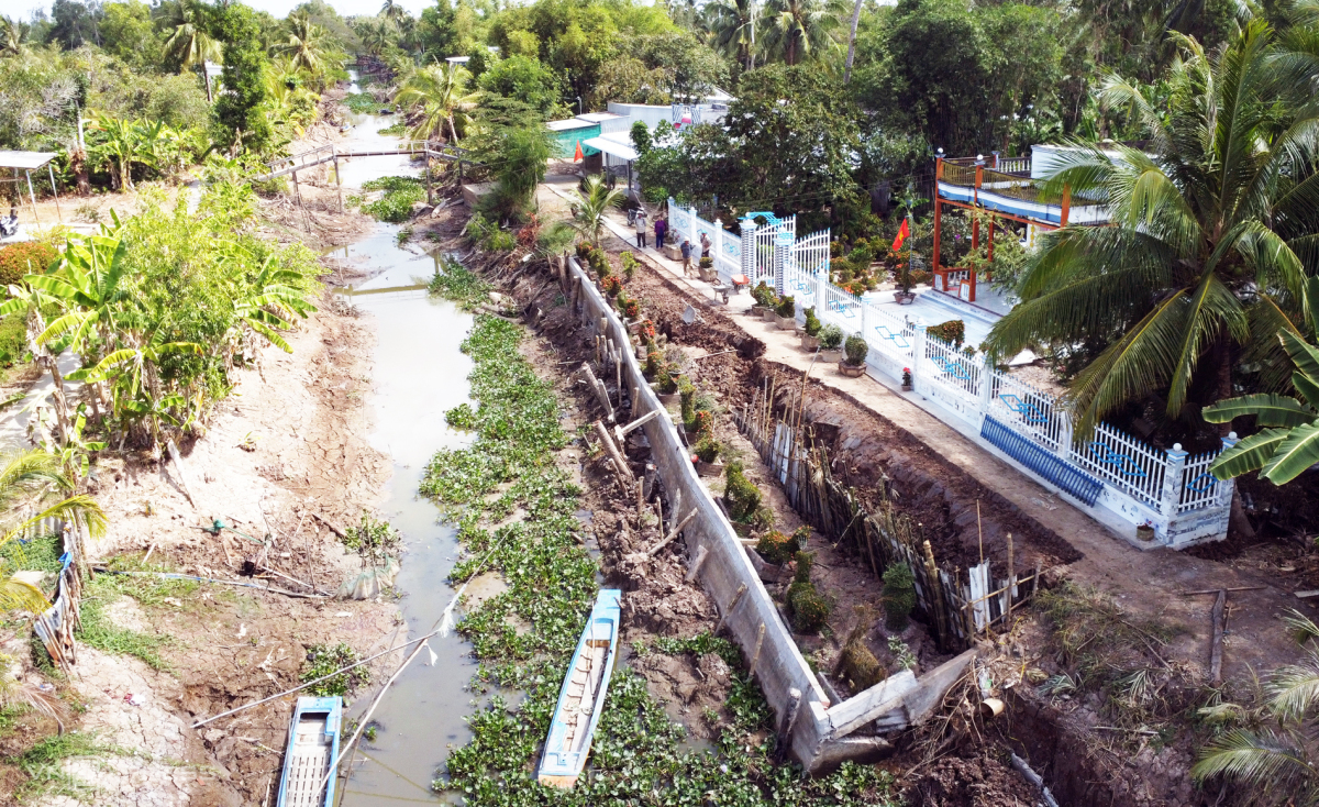
<path fill-rule="evenodd" d="M 562 195 L 557 187 L 550 190 Z M 654 248 L 637 249 L 636 233 L 621 214 L 611 212 L 607 227 L 627 241 L 633 253 L 645 256 L 648 265 L 694 298 L 715 299 L 708 284 L 683 277 L 682 264 L 670 261 Z M 761 319 L 743 316 L 751 305 L 749 294 L 735 294 L 729 298 L 727 313 L 747 334 L 765 343 L 765 359 L 806 371 L 811 356 L 801 351 L 795 335 Z M 922 400 L 914 393 L 902 393 L 884 380 L 871 376 L 845 378 L 836 369 L 822 369 L 819 365 L 813 377 L 849 394 L 871 411 L 904 429 L 1012 502 L 1022 514 L 1071 543 L 1084 558 L 1068 567 L 1068 575 L 1082 584 L 1111 592 L 1122 608 L 1133 613 L 1181 628 L 1179 636 L 1169 647 L 1181 661 L 1207 670 L 1212 636 L 1210 609 L 1213 597 L 1188 596 L 1184 592 L 1237 587 L 1262 588 L 1233 592 L 1229 596 L 1232 621 L 1225 640 L 1224 674 L 1248 674 L 1246 665 L 1264 671 L 1302 657 L 1278 617 L 1293 608 L 1308 613 L 1310 605 L 1295 599 L 1290 591 L 1278 588 L 1277 578 L 1166 549 L 1140 551 L 1104 525 L 1059 500 L 1039 483 L 1001 462 L 997 450 L 981 444 L 979 435 L 969 427 L 959 430 L 934 417 L 931 413 L 938 405 L 933 401 Z M 1233 625 L 1236 636 L 1232 636 Z"/>

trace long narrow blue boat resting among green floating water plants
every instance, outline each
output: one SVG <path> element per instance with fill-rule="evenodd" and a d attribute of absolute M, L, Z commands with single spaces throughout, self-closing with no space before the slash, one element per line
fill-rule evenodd
<path fill-rule="evenodd" d="M 559 704 L 554 708 L 550 736 L 545 741 L 545 754 L 537 775 L 541 785 L 572 787 L 586 767 L 591 737 L 600 723 L 619 650 L 621 596 L 623 592 L 617 588 L 601 588 L 595 599 L 591 618 L 587 620 L 572 654 L 568 674 L 563 678 Z"/>

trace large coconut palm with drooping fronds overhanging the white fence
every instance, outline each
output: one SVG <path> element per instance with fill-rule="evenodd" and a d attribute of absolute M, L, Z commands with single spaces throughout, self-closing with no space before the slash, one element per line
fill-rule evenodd
<path fill-rule="evenodd" d="M 1082 434 L 1151 394 L 1166 396 L 1170 417 L 1192 388 L 1210 401 L 1229 397 L 1252 330 L 1272 338 L 1285 327 L 1304 277 L 1319 269 L 1311 67 L 1272 38 L 1254 21 L 1211 55 L 1178 36 L 1182 58 L 1159 107 L 1107 79 L 1101 103 L 1130 109 L 1148 145 L 1079 148 L 1043 187 L 1070 187 L 1072 204 L 1100 200 L 1112 225 L 1051 233 L 987 349 L 1002 357 L 1041 343 L 1107 344 L 1068 390 Z"/>

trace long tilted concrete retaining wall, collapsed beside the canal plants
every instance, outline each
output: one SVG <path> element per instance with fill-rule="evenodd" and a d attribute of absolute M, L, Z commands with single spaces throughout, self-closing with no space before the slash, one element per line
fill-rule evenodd
<path fill-rule="evenodd" d="M 867 725 L 894 731 L 919 723 L 966 672 L 975 650 L 919 680 L 902 672 L 844 703 L 831 703 L 765 589 L 748 550 L 700 483 L 690 450 L 641 372 L 627 326 L 575 258 L 557 262 L 557 270 L 574 314 L 604 338 L 601 355 L 612 365 L 609 374 L 630 392 L 632 419 L 658 414 L 644 422 L 641 430 L 663 481 L 670 522 L 686 525 L 682 541 L 687 549 L 689 578 L 698 580 L 719 608 L 720 622 L 741 647 L 749 671 L 774 711 L 778 734 L 786 740 L 793 757 L 807 770 L 816 771 L 886 750 L 888 742 L 881 737 L 852 734 Z M 599 394 L 609 407 L 607 392 L 601 389 Z"/>

